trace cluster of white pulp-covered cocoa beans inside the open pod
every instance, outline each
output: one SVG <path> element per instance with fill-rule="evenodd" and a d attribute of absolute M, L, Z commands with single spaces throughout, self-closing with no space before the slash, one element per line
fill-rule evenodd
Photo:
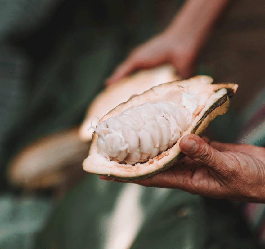
<path fill-rule="evenodd" d="M 144 103 L 97 125 L 98 152 L 133 165 L 173 147 L 193 120 L 190 110 L 171 102 Z"/>

